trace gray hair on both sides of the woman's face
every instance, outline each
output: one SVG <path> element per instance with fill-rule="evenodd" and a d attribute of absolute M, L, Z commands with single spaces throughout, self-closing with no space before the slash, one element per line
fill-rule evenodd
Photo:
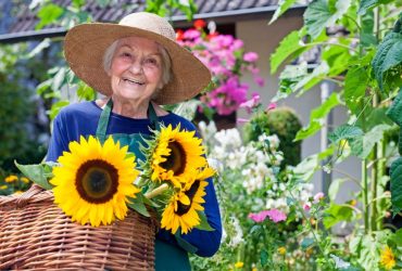
<path fill-rule="evenodd" d="M 118 41 L 121 39 L 115 40 L 111 46 L 108 47 L 108 49 L 104 51 L 103 54 L 103 69 L 104 72 L 109 73 L 111 67 L 112 67 L 112 60 L 114 52 L 117 49 Z M 165 86 L 166 83 L 169 82 L 172 78 L 172 60 L 171 56 L 168 55 L 166 49 L 161 46 L 160 43 L 158 44 L 158 51 L 161 53 L 162 56 L 162 85 Z M 159 91 L 156 91 L 159 92 Z"/>

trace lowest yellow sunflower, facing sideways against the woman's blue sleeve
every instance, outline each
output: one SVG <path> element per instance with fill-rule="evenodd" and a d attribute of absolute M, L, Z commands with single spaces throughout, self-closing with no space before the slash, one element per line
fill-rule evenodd
<path fill-rule="evenodd" d="M 162 212 L 161 227 L 166 230 L 172 230 L 175 234 L 178 228 L 181 233 L 186 234 L 193 227 L 200 224 L 198 211 L 204 210 L 202 204 L 205 202 L 206 178 L 213 176 L 215 171 L 211 168 L 204 168 L 202 171 L 196 172 L 192 180 L 183 184 L 183 188 L 176 192 L 169 203 Z"/>

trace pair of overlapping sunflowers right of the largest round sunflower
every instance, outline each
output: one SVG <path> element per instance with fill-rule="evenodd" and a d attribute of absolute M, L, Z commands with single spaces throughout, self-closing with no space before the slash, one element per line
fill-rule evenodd
<path fill-rule="evenodd" d="M 215 171 L 208 167 L 201 139 L 194 131 L 175 129 L 169 125 L 154 131 L 154 138 L 142 147 L 145 162 L 142 184 L 153 189 L 163 182 L 171 189 L 169 199 L 162 212 L 161 227 L 186 234 L 201 224 L 208 178 Z M 150 180 L 152 182 L 150 182 Z"/>

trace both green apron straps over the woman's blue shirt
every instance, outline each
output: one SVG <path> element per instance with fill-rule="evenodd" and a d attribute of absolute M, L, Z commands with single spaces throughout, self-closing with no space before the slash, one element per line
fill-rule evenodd
<path fill-rule="evenodd" d="M 109 125 L 109 119 L 110 115 L 113 108 L 113 101 L 112 99 L 109 99 L 106 105 L 104 106 L 98 121 L 98 127 L 97 127 L 97 138 L 104 138 L 106 136 L 106 130 L 108 130 L 108 125 Z M 160 122 L 158 119 L 158 115 L 155 109 L 153 108 L 152 103 L 149 103 L 148 106 L 148 118 L 150 120 L 150 128 L 153 130 L 160 130 Z"/>

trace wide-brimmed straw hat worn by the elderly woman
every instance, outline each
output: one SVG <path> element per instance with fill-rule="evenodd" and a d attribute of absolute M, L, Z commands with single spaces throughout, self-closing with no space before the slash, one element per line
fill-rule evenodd
<path fill-rule="evenodd" d="M 115 40 L 131 36 L 156 41 L 172 59 L 172 78 L 154 99 L 158 104 L 183 102 L 209 85 L 210 70 L 175 41 L 171 24 L 147 12 L 131 13 L 118 24 L 91 23 L 73 27 L 65 36 L 65 59 L 81 80 L 109 96 L 112 94 L 111 78 L 103 69 L 103 54 Z"/>

